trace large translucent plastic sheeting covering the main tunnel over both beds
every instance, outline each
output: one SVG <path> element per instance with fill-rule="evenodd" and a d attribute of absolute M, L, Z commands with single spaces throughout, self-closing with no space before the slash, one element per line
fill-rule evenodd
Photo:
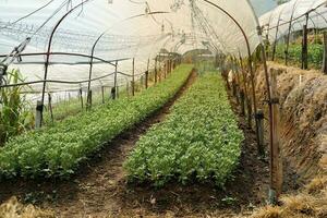
<path fill-rule="evenodd" d="M 58 21 L 81 2 L 56 31 L 51 51 L 90 56 L 104 35 L 94 55 L 109 61 L 126 59 L 119 70 L 128 74 L 130 59 L 136 58 L 136 72 L 144 72 L 147 59 L 153 66 L 162 48 L 181 55 L 209 49 L 246 57 L 261 41 L 257 17 L 247 0 L 0 0 L 0 55 L 10 53 L 26 37 L 32 39 L 22 53 L 46 52 Z M 23 57 L 16 64 L 29 72 L 27 80 L 36 80 L 43 77 L 44 62 L 40 55 Z M 49 80 L 87 78 L 88 62 L 85 57 L 51 56 Z M 62 65 L 68 63 L 76 66 Z M 96 68 L 98 76 L 113 71 L 108 64 Z"/>

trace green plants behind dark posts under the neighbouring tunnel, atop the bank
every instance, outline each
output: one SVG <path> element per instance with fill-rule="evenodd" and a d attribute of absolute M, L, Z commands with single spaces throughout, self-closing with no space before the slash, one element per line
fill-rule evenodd
<path fill-rule="evenodd" d="M 289 60 L 296 66 L 301 66 L 302 63 L 302 45 L 291 44 L 289 47 Z M 279 44 L 276 47 L 276 58 L 277 60 L 284 60 L 284 45 Z M 324 48 L 320 44 L 308 45 L 307 50 L 307 61 L 311 68 L 320 69 L 324 59 Z"/>

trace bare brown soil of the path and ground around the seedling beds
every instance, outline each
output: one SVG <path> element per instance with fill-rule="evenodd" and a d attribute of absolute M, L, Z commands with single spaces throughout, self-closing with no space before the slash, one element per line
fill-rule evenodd
<path fill-rule="evenodd" d="M 141 135 L 165 120 L 173 102 L 196 80 L 186 84 L 161 110 L 108 143 L 100 154 L 81 167 L 69 181 L 0 182 L 0 204 L 11 196 L 53 210 L 56 217 L 233 217 L 246 215 L 264 204 L 268 190 L 268 162 L 257 158 L 255 134 L 240 118 L 244 131 L 240 166 L 223 190 L 214 183 L 185 186 L 170 183 L 162 189 L 150 184 L 129 184 L 123 162 Z M 238 109 L 231 101 L 235 112 Z"/>

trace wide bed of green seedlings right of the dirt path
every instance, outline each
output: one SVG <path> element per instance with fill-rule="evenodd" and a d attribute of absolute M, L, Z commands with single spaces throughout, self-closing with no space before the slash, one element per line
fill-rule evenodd
<path fill-rule="evenodd" d="M 214 180 L 221 186 L 239 162 L 243 140 L 222 77 L 205 73 L 138 141 L 124 168 L 132 182 Z"/>

